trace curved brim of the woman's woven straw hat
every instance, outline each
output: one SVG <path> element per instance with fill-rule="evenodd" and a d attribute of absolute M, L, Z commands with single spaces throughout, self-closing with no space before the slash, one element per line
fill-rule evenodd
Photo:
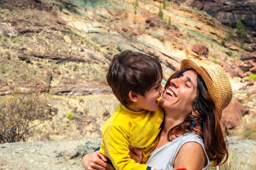
<path fill-rule="evenodd" d="M 218 119 L 221 120 L 221 104 L 220 104 L 220 97 L 218 96 L 218 92 L 212 82 L 212 80 L 207 76 L 207 74 L 204 72 L 202 68 L 200 68 L 195 62 L 193 62 L 191 59 L 183 59 L 180 64 L 180 69 L 185 68 L 193 68 L 203 79 L 207 86 L 207 90 L 209 92 L 209 95 L 212 97 L 212 100 L 215 104 L 216 110 L 217 110 L 217 116 Z"/>

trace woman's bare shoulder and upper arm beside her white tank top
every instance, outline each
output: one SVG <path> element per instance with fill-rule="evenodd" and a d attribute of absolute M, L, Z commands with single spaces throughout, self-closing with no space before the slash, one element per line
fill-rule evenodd
<path fill-rule="evenodd" d="M 183 144 L 175 158 L 174 169 L 201 170 L 205 167 L 206 160 L 206 155 L 200 144 L 187 142 Z"/>

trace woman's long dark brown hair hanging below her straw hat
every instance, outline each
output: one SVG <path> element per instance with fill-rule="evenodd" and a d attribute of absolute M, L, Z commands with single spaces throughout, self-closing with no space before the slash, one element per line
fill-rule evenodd
<path fill-rule="evenodd" d="M 172 74 L 166 82 L 165 89 L 170 85 L 171 79 L 178 78 L 189 70 L 193 69 L 186 68 Z M 221 164 L 221 161 L 226 156 L 222 164 L 225 163 L 228 159 L 227 139 L 221 130 L 215 104 L 208 93 L 203 78 L 199 74 L 197 76 L 197 96 L 192 101 L 192 107 L 193 110 L 197 111 L 197 115 L 193 116 L 190 114 L 182 123 L 172 127 L 167 133 L 168 140 L 171 141 L 171 136 L 176 135 L 178 131 L 189 132 L 192 121 L 197 120 L 201 122 L 201 130 L 204 133 L 204 147 L 209 160 L 212 162 L 212 166 Z"/>

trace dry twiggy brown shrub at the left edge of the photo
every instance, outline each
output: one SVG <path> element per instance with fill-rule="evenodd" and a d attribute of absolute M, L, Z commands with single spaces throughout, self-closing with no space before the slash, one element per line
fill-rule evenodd
<path fill-rule="evenodd" d="M 39 93 L 16 92 L 12 97 L 1 97 L 0 143 L 26 141 L 31 136 L 29 130 L 56 113 L 58 109 Z"/>

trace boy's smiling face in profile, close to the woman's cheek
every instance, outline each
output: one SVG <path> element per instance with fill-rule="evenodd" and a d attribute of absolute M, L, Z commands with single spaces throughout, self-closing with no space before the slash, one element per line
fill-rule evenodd
<path fill-rule="evenodd" d="M 145 109 L 147 111 L 156 111 L 158 101 L 157 99 L 161 96 L 164 92 L 164 88 L 161 85 L 161 77 L 157 79 L 157 82 L 152 86 L 152 88 L 145 93 L 144 96 L 139 95 L 139 100 L 137 105 L 140 108 Z"/>

